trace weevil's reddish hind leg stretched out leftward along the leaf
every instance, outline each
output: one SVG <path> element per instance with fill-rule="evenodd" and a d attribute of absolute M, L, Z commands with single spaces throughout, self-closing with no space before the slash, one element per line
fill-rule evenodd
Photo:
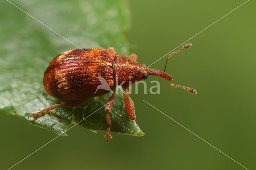
<path fill-rule="evenodd" d="M 59 104 L 52 105 L 50 107 L 46 107 L 46 109 L 44 109 L 44 110 L 42 110 L 40 112 L 34 113 L 32 115 L 28 115 L 28 117 L 32 117 L 33 116 L 34 119 L 36 119 L 40 114 L 47 113 L 48 111 L 56 109 L 56 108 L 58 108 L 60 106 L 70 106 L 70 107 L 79 106 L 79 105 L 82 105 L 84 102 L 86 102 L 89 99 L 90 98 L 86 98 L 86 99 L 82 99 L 82 100 L 62 101 Z"/>

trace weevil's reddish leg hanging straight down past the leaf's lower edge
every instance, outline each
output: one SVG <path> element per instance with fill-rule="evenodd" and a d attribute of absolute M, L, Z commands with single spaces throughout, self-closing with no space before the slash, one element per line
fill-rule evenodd
<path fill-rule="evenodd" d="M 108 128 L 107 128 L 107 132 L 106 132 L 106 135 L 105 135 L 105 138 L 107 138 L 107 142 L 108 142 L 108 138 L 112 138 L 111 134 L 110 134 L 110 127 L 112 126 L 111 124 L 111 120 L 110 120 L 110 117 L 108 115 L 108 113 L 110 112 L 112 106 L 114 105 L 115 103 L 115 95 L 116 95 L 116 90 L 113 90 L 113 94 L 112 96 L 108 99 L 107 101 L 107 104 L 106 104 L 106 107 L 105 107 L 105 111 L 106 111 L 106 119 L 107 119 L 107 124 L 108 124 Z"/>

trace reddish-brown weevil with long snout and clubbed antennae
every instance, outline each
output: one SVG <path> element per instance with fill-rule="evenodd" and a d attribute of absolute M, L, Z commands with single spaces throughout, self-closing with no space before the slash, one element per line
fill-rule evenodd
<path fill-rule="evenodd" d="M 190 47 L 191 44 L 184 45 L 180 50 L 168 55 L 166 64 L 171 55 Z M 94 96 L 108 93 L 104 88 L 97 88 L 102 85 L 99 76 L 106 81 L 107 87 L 114 93 L 108 99 L 105 106 L 107 119 L 107 132 L 105 137 L 110 135 L 111 121 L 108 113 L 115 101 L 115 89 L 117 85 L 122 85 L 124 93 L 124 103 L 131 120 L 136 119 L 134 104 L 127 91 L 129 86 L 135 81 L 146 79 L 148 75 L 156 75 L 165 78 L 173 87 L 180 87 L 197 93 L 196 90 L 170 83 L 172 76 L 164 71 L 150 69 L 145 64 L 136 62 L 137 56 L 130 57 L 116 55 L 114 48 L 109 49 L 72 49 L 61 53 L 48 65 L 44 73 L 44 89 L 51 96 L 58 99 L 65 99 L 60 104 L 56 104 L 46 109 L 29 115 L 36 119 L 38 115 L 46 113 L 60 106 L 78 106 Z M 165 65 L 166 67 L 166 65 Z"/>

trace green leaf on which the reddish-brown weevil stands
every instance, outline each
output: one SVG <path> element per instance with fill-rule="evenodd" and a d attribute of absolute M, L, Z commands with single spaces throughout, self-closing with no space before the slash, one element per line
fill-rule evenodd
<path fill-rule="evenodd" d="M 31 16 L 64 36 L 81 48 L 114 47 L 127 55 L 123 36 L 128 23 L 125 1 L 11 1 Z M 48 95 L 43 88 L 44 70 L 53 57 L 69 49 L 78 48 L 52 32 L 14 5 L 0 2 L 0 112 L 17 115 L 29 123 L 57 134 L 66 135 L 72 124 L 90 130 L 106 130 L 104 105 L 111 93 L 94 97 L 79 107 L 59 107 L 43 114 L 36 121 L 27 116 L 61 100 Z M 1 13 L 1 15 L 3 15 Z M 143 136 L 135 121 L 131 121 L 124 107 L 122 92 L 110 112 L 111 132 Z M 102 107 L 102 108 L 101 108 Z M 101 108 L 101 109 L 99 109 Z M 98 110 L 99 109 L 99 110 Z"/>

